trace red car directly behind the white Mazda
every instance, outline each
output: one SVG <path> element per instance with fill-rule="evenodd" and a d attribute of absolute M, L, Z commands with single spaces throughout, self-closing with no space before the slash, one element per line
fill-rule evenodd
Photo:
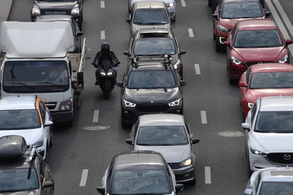
<path fill-rule="evenodd" d="M 293 96 L 292 64 L 256 64 L 241 76 L 240 105 L 244 119 L 258 98 L 268 96 Z"/>

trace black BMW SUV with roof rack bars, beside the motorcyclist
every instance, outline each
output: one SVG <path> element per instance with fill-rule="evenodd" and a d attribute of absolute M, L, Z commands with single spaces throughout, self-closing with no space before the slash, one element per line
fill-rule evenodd
<path fill-rule="evenodd" d="M 178 72 L 164 54 L 153 59 L 130 58 L 121 87 L 121 126 L 135 123 L 140 115 L 171 113 L 183 115 L 182 86 Z"/>

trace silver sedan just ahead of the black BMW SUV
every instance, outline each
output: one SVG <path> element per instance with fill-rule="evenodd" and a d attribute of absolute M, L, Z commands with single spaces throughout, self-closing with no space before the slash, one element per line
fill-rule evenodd
<path fill-rule="evenodd" d="M 150 150 L 163 154 L 177 182 L 195 184 L 194 146 L 199 142 L 190 133 L 183 115 L 149 114 L 139 116 L 126 143 L 130 150 Z"/>

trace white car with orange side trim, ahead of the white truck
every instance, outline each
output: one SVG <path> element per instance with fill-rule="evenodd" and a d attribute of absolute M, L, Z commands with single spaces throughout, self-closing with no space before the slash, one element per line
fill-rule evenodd
<path fill-rule="evenodd" d="M 52 125 L 49 109 L 36 96 L 8 96 L 0 99 L 0 137 L 19 135 L 28 147 L 35 144 L 48 163 L 52 146 Z"/>

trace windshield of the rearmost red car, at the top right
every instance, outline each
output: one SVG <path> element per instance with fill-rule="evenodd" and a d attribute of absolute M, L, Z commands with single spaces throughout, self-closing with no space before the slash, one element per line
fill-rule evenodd
<path fill-rule="evenodd" d="M 222 8 L 222 19 L 262 18 L 263 12 L 258 2 L 225 3 Z"/>

